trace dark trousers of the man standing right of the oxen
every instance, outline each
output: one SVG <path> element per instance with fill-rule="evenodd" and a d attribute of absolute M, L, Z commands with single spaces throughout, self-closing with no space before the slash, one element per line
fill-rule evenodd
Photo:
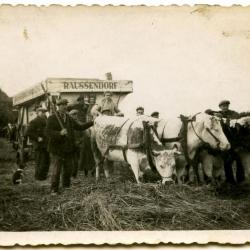
<path fill-rule="evenodd" d="M 244 167 L 241 163 L 241 159 L 237 153 L 230 150 L 223 155 L 224 159 L 224 170 L 226 175 L 226 181 L 235 184 L 240 183 L 245 180 L 245 173 L 244 173 Z M 233 175 L 233 168 L 232 164 L 236 161 L 236 180 L 234 179 Z"/>

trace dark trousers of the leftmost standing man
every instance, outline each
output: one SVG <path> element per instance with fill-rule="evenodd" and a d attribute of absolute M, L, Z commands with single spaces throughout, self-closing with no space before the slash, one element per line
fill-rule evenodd
<path fill-rule="evenodd" d="M 35 179 L 39 181 L 46 180 L 49 172 L 49 153 L 46 149 L 35 151 Z"/>

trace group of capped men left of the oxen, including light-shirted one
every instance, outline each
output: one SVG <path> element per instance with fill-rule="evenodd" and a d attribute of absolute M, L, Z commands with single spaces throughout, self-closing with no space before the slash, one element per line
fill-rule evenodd
<path fill-rule="evenodd" d="M 123 115 L 111 98 L 110 92 L 97 105 L 95 98 L 80 95 L 78 103 L 68 105 L 68 100 L 59 99 L 57 110 L 48 118 L 47 110 L 37 107 L 37 117 L 33 119 L 27 130 L 35 150 L 35 179 L 45 180 L 49 166 L 52 170 L 51 193 L 59 192 L 60 178 L 62 187 L 71 185 L 71 178 L 77 176 L 78 169 L 85 175 L 94 173 L 94 159 L 90 145 L 90 128 L 93 125 L 91 110 L 95 108 L 97 115 Z"/>

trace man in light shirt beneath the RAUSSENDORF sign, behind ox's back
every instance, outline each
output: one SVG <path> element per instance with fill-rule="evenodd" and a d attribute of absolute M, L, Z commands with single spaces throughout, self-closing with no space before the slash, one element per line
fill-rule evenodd
<path fill-rule="evenodd" d="M 123 115 L 118 109 L 117 105 L 112 100 L 112 93 L 110 91 L 104 92 L 104 98 L 102 99 L 101 104 L 98 106 L 97 111 L 100 112 L 102 115 Z"/>

